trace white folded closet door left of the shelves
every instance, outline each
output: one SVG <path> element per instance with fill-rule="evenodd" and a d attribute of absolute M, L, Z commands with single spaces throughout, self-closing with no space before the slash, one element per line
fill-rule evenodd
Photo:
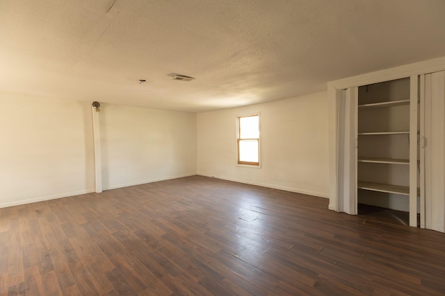
<path fill-rule="evenodd" d="M 357 215 L 358 87 L 338 92 L 337 211 Z"/>

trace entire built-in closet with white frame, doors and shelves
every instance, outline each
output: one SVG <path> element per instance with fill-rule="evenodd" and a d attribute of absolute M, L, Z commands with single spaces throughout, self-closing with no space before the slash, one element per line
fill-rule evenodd
<path fill-rule="evenodd" d="M 327 86 L 329 209 L 445 232 L 445 58 Z"/>

